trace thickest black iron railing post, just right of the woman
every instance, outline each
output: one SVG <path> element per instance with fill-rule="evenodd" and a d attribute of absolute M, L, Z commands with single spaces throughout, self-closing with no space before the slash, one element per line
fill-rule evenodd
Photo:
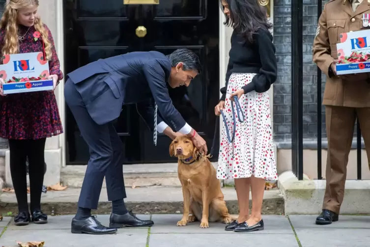
<path fill-rule="evenodd" d="M 303 1 L 291 1 L 292 170 L 303 179 Z"/>

